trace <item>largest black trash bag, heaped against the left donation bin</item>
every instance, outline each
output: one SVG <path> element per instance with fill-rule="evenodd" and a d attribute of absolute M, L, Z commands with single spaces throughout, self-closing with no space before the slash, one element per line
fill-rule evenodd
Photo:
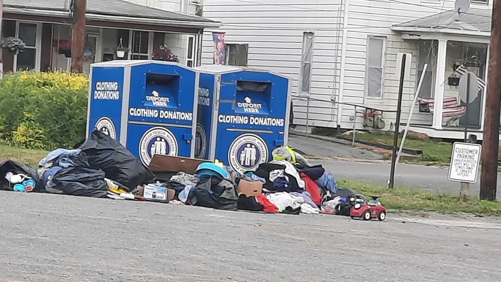
<path fill-rule="evenodd" d="M 104 171 L 106 178 L 114 180 L 130 190 L 138 185 L 154 183 L 155 175 L 129 150 L 107 134 L 94 130 L 82 149 L 92 168 Z"/>

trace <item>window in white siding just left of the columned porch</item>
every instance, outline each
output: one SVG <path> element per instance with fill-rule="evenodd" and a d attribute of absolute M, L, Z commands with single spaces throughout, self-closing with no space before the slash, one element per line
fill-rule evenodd
<path fill-rule="evenodd" d="M 368 98 L 382 98 L 384 47 L 386 38 L 369 37 L 367 40 L 366 95 Z"/>

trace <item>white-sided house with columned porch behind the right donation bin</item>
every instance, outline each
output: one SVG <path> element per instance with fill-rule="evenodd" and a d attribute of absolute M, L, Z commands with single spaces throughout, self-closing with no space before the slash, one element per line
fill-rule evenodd
<path fill-rule="evenodd" d="M 411 55 L 402 119 L 437 138 L 482 139 L 485 87 L 467 104 L 458 92 L 461 69 L 486 81 L 492 0 L 472 1 L 461 15 L 453 0 L 204 0 L 203 16 L 223 22 L 227 63 L 271 69 L 294 79 L 296 125 L 367 126 L 373 108 L 392 130 L 398 97 L 397 55 Z M 213 63 L 205 32 L 202 64 Z M 428 64 L 412 104 L 424 63 Z M 457 71 L 454 71 L 457 70 Z"/>

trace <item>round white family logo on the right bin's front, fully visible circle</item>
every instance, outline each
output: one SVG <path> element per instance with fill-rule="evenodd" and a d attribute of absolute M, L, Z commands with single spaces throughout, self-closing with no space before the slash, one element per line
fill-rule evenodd
<path fill-rule="evenodd" d="M 229 146 L 228 161 L 239 173 L 255 170 L 260 164 L 268 161 L 268 147 L 256 134 L 241 134 Z"/>

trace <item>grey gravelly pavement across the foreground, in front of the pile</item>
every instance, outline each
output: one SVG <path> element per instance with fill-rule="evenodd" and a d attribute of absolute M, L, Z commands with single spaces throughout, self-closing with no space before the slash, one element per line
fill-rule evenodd
<path fill-rule="evenodd" d="M 499 220 L 365 222 L 0 196 L 2 282 L 501 281 Z"/>

